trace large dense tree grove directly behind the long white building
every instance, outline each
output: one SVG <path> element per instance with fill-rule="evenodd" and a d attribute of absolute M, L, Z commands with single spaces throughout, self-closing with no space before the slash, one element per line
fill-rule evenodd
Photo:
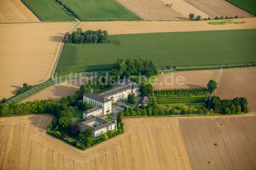
<path fill-rule="evenodd" d="M 134 75 L 146 75 L 147 77 L 157 74 L 157 69 L 151 60 L 145 58 L 118 59 L 112 66 L 112 70 L 118 72 L 120 77 Z"/>

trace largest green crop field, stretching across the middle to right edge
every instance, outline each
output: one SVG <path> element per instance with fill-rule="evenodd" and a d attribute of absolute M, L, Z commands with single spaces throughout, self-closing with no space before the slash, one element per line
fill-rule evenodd
<path fill-rule="evenodd" d="M 56 72 L 108 70 L 116 59 L 127 57 L 144 57 L 157 67 L 256 62 L 256 29 L 122 34 L 109 39 L 113 43 L 66 43 Z"/>

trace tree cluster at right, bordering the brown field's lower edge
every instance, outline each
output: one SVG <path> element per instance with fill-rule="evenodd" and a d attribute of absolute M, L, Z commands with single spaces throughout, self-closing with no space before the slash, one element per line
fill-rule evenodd
<path fill-rule="evenodd" d="M 212 108 L 215 113 L 234 114 L 240 111 L 248 113 L 247 104 L 247 99 L 243 97 L 236 97 L 233 100 L 221 100 L 219 97 L 213 96 L 211 98 L 210 108 Z"/>

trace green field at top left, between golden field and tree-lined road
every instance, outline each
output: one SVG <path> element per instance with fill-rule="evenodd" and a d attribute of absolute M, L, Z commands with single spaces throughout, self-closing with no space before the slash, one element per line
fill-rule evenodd
<path fill-rule="evenodd" d="M 54 0 L 22 0 L 41 21 L 74 21 Z"/>

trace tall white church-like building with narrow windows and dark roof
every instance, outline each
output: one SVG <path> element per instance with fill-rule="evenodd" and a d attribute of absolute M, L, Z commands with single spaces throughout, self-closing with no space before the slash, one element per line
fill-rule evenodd
<path fill-rule="evenodd" d="M 93 107 L 101 106 L 102 114 L 106 115 L 113 111 L 112 101 L 108 98 L 105 98 L 101 95 L 95 93 L 86 93 L 83 95 L 83 102 L 91 103 Z"/>

